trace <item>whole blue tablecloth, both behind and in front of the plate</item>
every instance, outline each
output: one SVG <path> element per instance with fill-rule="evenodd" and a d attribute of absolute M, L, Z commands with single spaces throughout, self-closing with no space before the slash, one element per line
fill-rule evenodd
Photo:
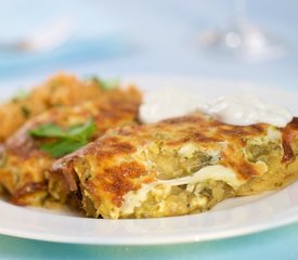
<path fill-rule="evenodd" d="M 295 1 L 247 2 L 250 23 L 277 35 L 288 48 L 283 58 L 260 63 L 212 55 L 197 46 L 196 39 L 204 29 L 231 22 L 231 1 L 128 0 L 124 4 L 117 0 L 83 3 L 67 0 L 60 1 L 59 9 L 56 0 L 29 0 L 26 5 L 22 2 L 0 4 L 0 39 L 17 38 L 17 32 L 26 31 L 25 25 L 31 26 L 30 23 L 42 21 L 49 13 L 56 16 L 70 13 L 79 26 L 69 42 L 50 53 L 0 51 L 0 88 L 64 69 L 80 75 L 93 72 L 191 75 L 298 91 L 298 4 Z M 11 15 L 15 10 L 24 12 L 15 17 Z M 0 235 L 0 259 L 297 259 L 297 234 L 295 223 L 229 239 L 135 247 L 57 244 Z"/>

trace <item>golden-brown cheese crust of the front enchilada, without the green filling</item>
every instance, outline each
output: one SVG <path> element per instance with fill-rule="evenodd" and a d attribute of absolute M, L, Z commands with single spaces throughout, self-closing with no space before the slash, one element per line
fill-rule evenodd
<path fill-rule="evenodd" d="M 258 180 L 268 168 L 268 171 L 272 170 L 270 168 L 271 162 L 269 161 L 267 168 L 264 162 L 258 164 L 260 161 L 249 160 L 244 151 L 251 140 L 265 139 L 269 130 L 270 126 L 265 123 L 248 127 L 229 126 L 202 114 L 168 119 L 148 126 L 125 127 L 109 131 L 95 142 L 55 161 L 51 174 L 64 177 L 64 187 L 68 188 L 69 192 L 81 193 L 80 196 L 82 196 L 82 205 L 87 214 L 92 217 L 161 217 L 190 213 L 198 210 L 198 208 L 191 208 L 190 206 L 189 209 L 179 209 L 179 203 L 172 202 L 174 206 L 170 207 L 168 212 L 160 214 L 150 212 L 152 209 L 150 207 L 147 212 L 142 212 L 139 216 L 137 213 L 127 216 L 126 213 L 121 214 L 121 212 L 115 214 L 115 210 L 120 210 L 124 207 L 125 196 L 129 192 L 138 191 L 144 184 L 153 183 L 158 179 L 171 179 L 172 177 L 169 176 L 174 174 L 176 171 L 180 171 L 180 173 L 174 178 L 192 173 L 184 170 L 184 165 L 178 164 L 181 158 L 177 152 L 170 155 L 172 157 L 170 164 L 168 164 L 169 161 L 166 161 L 167 164 L 161 161 L 161 159 L 169 159 L 166 157 L 166 153 L 181 151 L 187 144 L 194 144 L 207 154 L 210 151 L 219 151 L 219 158 L 215 164 L 232 169 L 239 181 L 247 183 L 251 180 Z M 272 158 L 282 166 L 280 167 L 281 170 L 286 171 L 288 157 L 291 158 L 291 161 L 297 160 L 291 147 L 293 143 L 297 141 L 296 121 L 294 120 L 285 129 L 275 129 L 275 131 L 282 131 L 283 138 L 274 141 L 274 150 L 276 150 L 274 156 L 274 156 Z M 268 141 L 265 145 L 271 145 L 272 142 Z M 262 146 L 260 147 L 262 148 Z M 154 156 L 154 154 L 157 155 Z M 271 158 L 270 155 L 268 157 Z M 203 165 L 206 162 L 204 157 L 202 161 Z M 213 162 L 207 160 L 206 164 Z M 280 173 L 275 172 L 274 174 Z M 239 188 L 238 193 L 237 191 L 231 192 L 230 186 L 226 187 L 226 185 L 217 182 L 216 184 L 229 191 L 229 194 L 220 195 L 208 207 L 226 196 L 254 193 L 254 188 L 257 193 L 272 190 L 277 182 L 281 182 L 281 178 L 284 176 L 280 174 L 276 181 L 272 183 L 267 181 L 267 186 L 246 186 Z M 291 181 L 296 178 L 297 174 Z M 189 193 L 183 193 L 184 195 L 191 196 Z M 184 199 L 185 196 L 180 198 Z M 190 198 L 185 199 L 187 202 Z M 170 202 L 170 199 L 168 200 Z"/>

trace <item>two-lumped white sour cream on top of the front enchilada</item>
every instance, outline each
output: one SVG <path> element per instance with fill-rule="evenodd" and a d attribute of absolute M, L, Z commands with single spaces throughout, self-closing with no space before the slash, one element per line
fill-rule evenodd
<path fill-rule="evenodd" d="M 247 93 L 231 93 L 215 100 L 167 88 L 144 93 L 139 117 L 143 123 L 184 116 L 194 112 L 206 113 L 217 120 L 234 126 L 249 126 L 259 122 L 285 127 L 293 119 L 291 113 L 281 106 L 264 103 Z"/>

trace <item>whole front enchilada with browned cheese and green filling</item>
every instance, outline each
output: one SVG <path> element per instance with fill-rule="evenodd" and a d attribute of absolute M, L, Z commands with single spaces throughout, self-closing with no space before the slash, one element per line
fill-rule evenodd
<path fill-rule="evenodd" d="M 298 177 L 298 120 L 232 126 L 195 113 L 108 131 L 59 159 L 66 193 L 93 218 L 155 218 L 210 209 Z"/>

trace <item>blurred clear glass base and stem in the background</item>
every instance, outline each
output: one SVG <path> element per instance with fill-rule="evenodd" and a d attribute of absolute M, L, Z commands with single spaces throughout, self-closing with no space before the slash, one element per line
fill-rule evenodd
<path fill-rule="evenodd" d="M 211 28 L 199 36 L 199 44 L 217 54 L 229 54 L 248 62 L 262 62 L 284 56 L 288 47 L 283 39 L 250 23 L 246 0 L 233 0 L 232 23 Z"/>

